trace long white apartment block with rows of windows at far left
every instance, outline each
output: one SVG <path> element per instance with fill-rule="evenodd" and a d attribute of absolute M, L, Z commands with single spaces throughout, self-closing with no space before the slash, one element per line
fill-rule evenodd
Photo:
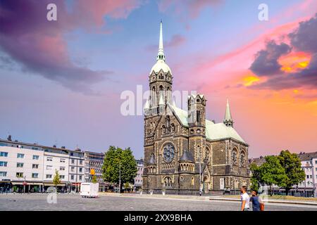
<path fill-rule="evenodd" d="M 56 170 L 59 191 L 80 191 L 85 181 L 84 153 L 80 149 L 42 146 L 0 139 L 0 192 L 40 192 L 54 186 Z"/>

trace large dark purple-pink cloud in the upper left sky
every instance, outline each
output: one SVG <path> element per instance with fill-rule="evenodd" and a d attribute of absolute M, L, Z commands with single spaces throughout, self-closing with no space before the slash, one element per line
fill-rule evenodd
<path fill-rule="evenodd" d="M 106 79 L 109 70 L 78 67 L 70 59 L 64 34 L 76 28 L 104 25 L 104 16 L 124 18 L 137 1 L 75 1 L 68 11 L 65 1 L 53 1 L 58 20 L 46 20 L 52 1 L 0 1 L 0 49 L 19 63 L 23 71 L 51 79 L 73 91 L 92 94 L 90 86 Z M 90 27 L 90 28 L 89 28 Z"/>

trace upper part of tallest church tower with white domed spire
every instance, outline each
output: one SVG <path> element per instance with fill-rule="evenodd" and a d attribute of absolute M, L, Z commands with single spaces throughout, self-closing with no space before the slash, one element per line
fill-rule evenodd
<path fill-rule="evenodd" d="M 159 53 L 156 56 L 156 63 L 149 73 L 149 111 L 151 115 L 161 114 L 161 108 L 170 103 L 173 84 L 172 71 L 165 63 L 163 49 L 163 23 L 160 23 Z"/>

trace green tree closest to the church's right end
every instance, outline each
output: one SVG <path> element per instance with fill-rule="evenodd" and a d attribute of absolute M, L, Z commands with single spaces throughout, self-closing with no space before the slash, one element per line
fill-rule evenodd
<path fill-rule="evenodd" d="M 265 157 L 266 162 L 264 162 L 259 169 L 260 181 L 263 184 L 270 186 L 270 191 L 272 195 L 273 184 L 278 186 L 285 185 L 285 169 L 280 165 L 280 160 L 278 156 L 268 155 Z"/>

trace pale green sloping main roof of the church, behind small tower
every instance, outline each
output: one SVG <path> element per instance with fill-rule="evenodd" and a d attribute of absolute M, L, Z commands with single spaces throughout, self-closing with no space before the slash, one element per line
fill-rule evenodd
<path fill-rule="evenodd" d="M 188 113 L 181 108 L 178 108 L 176 105 L 172 105 L 168 103 L 168 106 L 173 113 L 178 118 L 182 126 L 188 126 Z M 220 140 L 220 139 L 235 139 L 237 141 L 241 141 L 242 143 L 246 143 L 242 137 L 237 134 L 237 131 L 233 127 L 227 127 L 222 122 L 215 124 L 210 120 L 206 120 L 206 139 L 211 141 Z"/>

